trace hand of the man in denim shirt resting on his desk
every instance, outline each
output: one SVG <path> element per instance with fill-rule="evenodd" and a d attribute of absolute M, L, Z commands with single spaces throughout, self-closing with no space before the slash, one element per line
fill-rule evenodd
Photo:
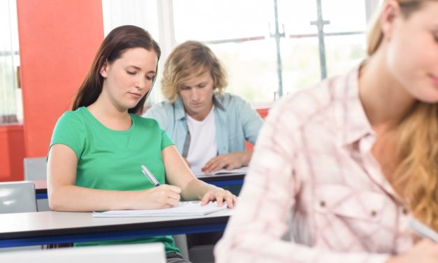
<path fill-rule="evenodd" d="M 218 155 L 210 159 L 201 171 L 211 173 L 212 171 L 219 171 L 220 169 L 232 170 L 240 168 L 248 165 L 251 156 L 252 151 L 230 152 L 226 155 Z"/>

